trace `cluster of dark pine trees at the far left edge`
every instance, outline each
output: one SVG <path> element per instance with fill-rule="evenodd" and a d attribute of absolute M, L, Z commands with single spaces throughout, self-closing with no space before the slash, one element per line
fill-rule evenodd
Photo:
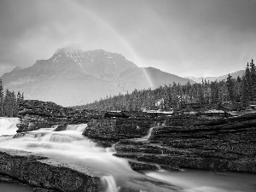
<path fill-rule="evenodd" d="M 15 91 L 3 90 L 3 82 L 0 79 L 0 117 L 17 117 L 18 105 L 24 100 L 24 94 L 15 94 Z"/>

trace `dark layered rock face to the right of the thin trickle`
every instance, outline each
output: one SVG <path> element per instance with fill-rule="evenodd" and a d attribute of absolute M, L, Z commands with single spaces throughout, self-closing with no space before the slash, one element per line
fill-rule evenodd
<path fill-rule="evenodd" d="M 256 173 L 256 113 L 227 119 L 177 116 L 155 127 L 148 141 L 122 140 L 116 156 L 175 170 Z"/>

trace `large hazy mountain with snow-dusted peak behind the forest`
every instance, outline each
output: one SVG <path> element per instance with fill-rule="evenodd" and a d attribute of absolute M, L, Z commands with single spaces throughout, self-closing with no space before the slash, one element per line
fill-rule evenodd
<path fill-rule="evenodd" d="M 0 79 L 9 90 L 24 92 L 26 99 L 63 106 L 86 104 L 127 90 L 189 81 L 153 67 L 137 67 L 125 56 L 103 49 L 58 49 L 49 59 L 38 60 L 24 69 L 15 67 Z"/>

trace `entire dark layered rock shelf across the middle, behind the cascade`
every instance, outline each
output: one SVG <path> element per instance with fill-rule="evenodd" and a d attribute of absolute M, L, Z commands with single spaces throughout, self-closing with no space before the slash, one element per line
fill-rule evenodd
<path fill-rule="evenodd" d="M 135 170 L 160 167 L 256 172 L 255 112 L 236 117 L 224 113 L 106 115 L 62 108 L 53 102 L 24 101 L 19 115 L 18 132 L 64 125 L 56 130 L 61 131 L 67 124 L 87 123 L 84 136 L 103 147 L 114 144 L 114 155 L 133 159 Z M 152 134 L 145 138 L 151 127 Z"/>

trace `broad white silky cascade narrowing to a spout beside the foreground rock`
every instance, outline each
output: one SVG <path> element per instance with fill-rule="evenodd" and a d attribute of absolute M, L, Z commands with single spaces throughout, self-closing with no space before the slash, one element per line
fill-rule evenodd
<path fill-rule="evenodd" d="M 15 122 L 8 125 L 2 124 L 1 126 L 4 130 L 9 127 L 17 129 Z M 100 148 L 89 138 L 84 137 L 82 132 L 85 127 L 86 124 L 67 125 L 65 131 L 55 131 L 56 126 L 53 126 L 52 128 L 27 131 L 15 138 L 1 137 L 0 148 L 25 150 L 42 154 L 61 162 L 75 163 L 79 166 L 88 167 L 93 172 L 108 176 L 104 177 L 105 183 L 108 183 L 106 184 L 108 186 L 106 187 L 107 191 L 118 192 L 119 188 L 115 178 L 119 176 L 126 177 L 128 172 L 132 172 L 128 161 L 113 156 L 113 147 Z"/>

